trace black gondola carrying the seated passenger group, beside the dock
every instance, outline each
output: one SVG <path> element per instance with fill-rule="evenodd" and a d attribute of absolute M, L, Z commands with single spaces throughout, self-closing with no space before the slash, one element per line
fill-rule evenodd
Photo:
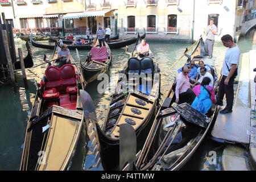
<path fill-rule="evenodd" d="M 203 39 L 199 40 L 192 55 L 187 56 L 188 60 L 195 60 L 196 64 L 203 60 L 201 48 Z M 214 90 L 217 93 L 218 80 L 214 81 Z M 216 118 L 217 109 L 213 104 L 207 114 L 201 114 L 187 103 L 177 105 L 172 85 L 156 114 L 134 169 L 173 171 L 183 167 L 203 141 Z"/>

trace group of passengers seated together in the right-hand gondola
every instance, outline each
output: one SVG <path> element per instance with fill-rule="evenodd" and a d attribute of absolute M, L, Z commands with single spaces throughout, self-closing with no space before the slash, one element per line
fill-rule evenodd
<path fill-rule="evenodd" d="M 212 103 L 215 101 L 213 89 L 213 76 L 210 68 L 199 62 L 200 67 L 195 67 L 195 61 L 178 69 L 176 77 L 175 102 L 182 104 L 187 102 L 189 105 L 205 114 L 208 112 Z M 196 79 L 195 79 L 196 78 Z M 191 83 L 200 84 L 193 88 Z M 192 89 L 193 88 L 193 89 Z"/>

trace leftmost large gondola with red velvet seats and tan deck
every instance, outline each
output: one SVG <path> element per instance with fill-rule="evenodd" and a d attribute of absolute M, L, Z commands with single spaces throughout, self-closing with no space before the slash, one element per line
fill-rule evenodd
<path fill-rule="evenodd" d="M 58 49 L 56 46 L 51 60 L 56 59 Z M 47 63 L 45 76 L 36 84 L 35 102 L 27 122 L 22 171 L 68 169 L 84 122 L 77 91 L 85 88 L 80 68 L 72 58 L 72 64 L 61 68 Z"/>

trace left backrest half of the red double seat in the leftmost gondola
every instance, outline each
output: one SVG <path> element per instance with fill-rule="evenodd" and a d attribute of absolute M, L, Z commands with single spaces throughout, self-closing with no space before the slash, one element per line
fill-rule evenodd
<path fill-rule="evenodd" d="M 57 67 L 49 66 L 46 69 L 46 89 L 58 88 L 61 86 L 60 70 Z"/>

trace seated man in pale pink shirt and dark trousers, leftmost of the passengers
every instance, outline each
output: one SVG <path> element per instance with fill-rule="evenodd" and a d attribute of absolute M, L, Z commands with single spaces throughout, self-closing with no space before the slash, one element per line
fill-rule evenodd
<path fill-rule="evenodd" d="M 188 67 L 184 66 L 176 77 L 175 102 L 177 104 L 182 104 L 184 102 L 187 102 L 189 105 L 192 104 L 196 95 L 191 89 L 191 86 L 188 77 Z"/>

